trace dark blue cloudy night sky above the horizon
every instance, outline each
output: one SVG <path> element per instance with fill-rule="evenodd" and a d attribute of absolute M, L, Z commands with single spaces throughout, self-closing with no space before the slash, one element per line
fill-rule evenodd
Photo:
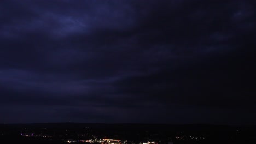
<path fill-rule="evenodd" d="M 255 1 L 1 1 L 0 123 L 256 124 Z"/>

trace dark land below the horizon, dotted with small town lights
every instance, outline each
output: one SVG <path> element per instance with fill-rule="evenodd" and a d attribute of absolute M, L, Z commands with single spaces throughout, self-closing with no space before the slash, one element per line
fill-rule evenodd
<path fill-rule="evenodd" d="M 0 143 L 256 143 L 256 127 L 168 124 L 0 124 Z"/>

